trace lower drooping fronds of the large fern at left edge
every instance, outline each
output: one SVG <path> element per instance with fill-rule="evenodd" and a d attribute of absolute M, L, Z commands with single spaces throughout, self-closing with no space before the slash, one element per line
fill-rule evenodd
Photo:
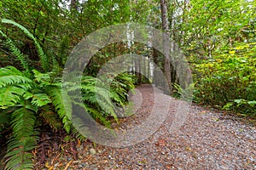
<path fill-rule="evenodd" d="M 4 111 L 18 108 L 11 111 L 9 119 L 13 134 L 5 156 L 6 169 L 32 169 L 31 150 L 37 146 L 37 133 L 33 128 L 36 117 L 41 118 L 37 122 L 47 122 L 50 127 L 57 129 L 61 124 L 57 115 L 53 114 L 56 111 L 67 133 L 73 128 L 70 121 L 72 100 L 67 93 L 61 91 L 60 79 L 52 79 L 51 72 L 32 72 L 34 80 L 12 66 L 0 69 L 0 106 Z M 0 118 L 2 116 L 8 118 L 6 114 L 0 114 Z M 74 128 L 72 131 L 78 134 Z"/>

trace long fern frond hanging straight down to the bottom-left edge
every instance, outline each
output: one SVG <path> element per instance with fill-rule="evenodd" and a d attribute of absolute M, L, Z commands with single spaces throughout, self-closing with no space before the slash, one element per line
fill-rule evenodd
<path fill-rule="evenodd" d="M 7 163 L 5 169 L 32 169 L 31 150 L 36 148 L 38 137 L 34 130 L 34 112 L 20 108 L 12 113 L 11 126 L 12 138 L 9 139 L 8 151 L 5 157 Z"/>

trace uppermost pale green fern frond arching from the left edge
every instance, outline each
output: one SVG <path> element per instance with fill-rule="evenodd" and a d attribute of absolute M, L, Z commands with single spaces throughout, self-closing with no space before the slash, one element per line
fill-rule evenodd
<path fill-rule="evenodd" d="M 20 28 L 20 30 L 24 31 L 27 37 L 30 37 L 34 41 L 36 48 L 38 50 L 38 55 L 41 59 L 42 67 L 44 71 L 49 71 L 49 59 L 46 56 L 46 54 L 44 54 L 43 48 L 41 48 L 40 44 L 38 43 L 37 39 L 32 35 L 32 33 L 30 33 L 30 31 L 28 31 L 24 26 L 21 26 L 20 24 L 16 23 L 14 20 L 2 19 L 2 22 L 17 26 L 18 28 Z"/>

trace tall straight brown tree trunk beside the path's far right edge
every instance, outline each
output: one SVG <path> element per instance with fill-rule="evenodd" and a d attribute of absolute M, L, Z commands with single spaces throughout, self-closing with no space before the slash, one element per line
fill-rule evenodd
<path fill-rule="evenodd" d="M 170 32 L 169 32 L 169 23 L 168 23 L 168 13 L 167 13 L 167 3 L 166 0 L 160 0 L 161 7 L 161 19 L 162 19 L 162 29 L 166 32 L 164 37 L 164 55 L 165 55 L 165 64 L 164 70 L 166 75 L 165 85 L 165 94 L 172 94 L 172 77 L 171 77 L 171 59 L 170 59 Z"/>

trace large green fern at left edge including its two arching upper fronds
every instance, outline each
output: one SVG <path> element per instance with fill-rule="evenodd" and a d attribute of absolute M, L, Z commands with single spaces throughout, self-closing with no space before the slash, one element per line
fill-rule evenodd
<path fill-rule="evenodd" d="M 25 27 L 12 20 L 2 20 L 2 22 L 18 26 L 25 32 L 26 36 L 32 38 L 38 48 L 42 63 L 44 63 L 44 71 L 47 71 L 49 62 L 35 37 Z M 55 129 L 60 127 L 57 117 L 52 115 L 52 111 L 57 111 L 68 132 L 67 123 L 70 123 L 70 121 L 63 116 L 67 116 L 67 111 L 59 109 L 66 105 L 63 104 L 62 99 L 58 98 L 61 94 L 57 94 L 57 90 L 49 90 L 61 88 L 60 79 L 52 77 L 55 72 L 51 71 L 44 74 L 39 71 L 32 71 L 25 55 L 15 47 L 3 31 L 1 31 L 1 34 L 5 37 L 6 45 L 11 53 L 20 60 L 21 65 L 26 70 L 26 72 L 19 71 L 14 66 L 0 69 L 0 119 L 5 120 L 1 121 L 0 127 L 3 129 L 3 127 L 10 125 L 13 130 L 5 156 L 7 162 L 5 168 L 29 169 L 33 167 L 31 150 L 37 146 L 38 133 L 35 127 L 39 124 L 36 124 L 36 122 L 49 123 L 49 126 Z M 51 107 L 52 105 L 55 107 Z M 51 111 L 49 111 L 49 108 Z"/>

